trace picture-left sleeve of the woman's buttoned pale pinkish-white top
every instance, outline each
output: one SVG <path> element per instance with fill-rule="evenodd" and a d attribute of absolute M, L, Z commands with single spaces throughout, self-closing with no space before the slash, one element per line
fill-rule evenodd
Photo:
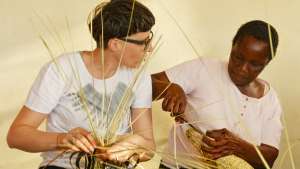
<path fill-rule="evenodd" d="M 165 72 L 170 82 L 180 85 L 184 92 L 189 94 L 196 87 L 195 84 L 199 83 L 197 75 L 203 72 L 203 66 L 199 63 L 200 59 L 194 59 L 167 69 Z"/>

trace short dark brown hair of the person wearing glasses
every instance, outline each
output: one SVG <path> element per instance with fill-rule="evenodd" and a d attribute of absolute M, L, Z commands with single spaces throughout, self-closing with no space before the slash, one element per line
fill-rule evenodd
<path fill-rule="evenodd" d="M 132 21 L 129 26 L 132 10 Z M 100 42 L 102 23 L 103 45 Z M 128 36 L 138 32 L 147 32 L 154 24 L 155 18 L 152 12 L 135 0 L 111 0 L 101 3 L 96 6 L 88 18 L 89 30 L 97 47 L 103 46 L 104 48 L 107 48 L 109 39 L 126 37 L 129 28 Z"/>

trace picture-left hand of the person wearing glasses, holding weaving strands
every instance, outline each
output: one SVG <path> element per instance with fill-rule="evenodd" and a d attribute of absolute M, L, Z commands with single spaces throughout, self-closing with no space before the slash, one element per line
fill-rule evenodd
<path fill-rule="evenodd" d="M 68 133 L 59 134 L 57 136 L 57 146 L 59 149 L 93 153 L 96 147 L 96 141 L 91 132 L 77 127 L 70 130 Z"/>

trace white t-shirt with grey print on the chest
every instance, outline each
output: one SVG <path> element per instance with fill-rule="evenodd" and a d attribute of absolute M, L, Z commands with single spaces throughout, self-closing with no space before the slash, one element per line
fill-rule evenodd
<path fill-rule="evenodd" d="M 97 133 L 104 135 L 134 76 L 135 70 L 120 68 L 105 81 L 93 79 L 79 52 L 64 54 L 41 69 L 25 106 L 33 111 L 48 114 L 46 130 L 49 132 L 68 132 L 76 127 L 90 131 L 87 116 L 89 111 Z M 118 129 L 120 135 L 130 132 L 130 108 L 151 108 L 150 75 L 143 73 L 131 91 L 132 95 L 128 98 Z M 43 152 L 41 166 L 53 160 L 58 153 L 58 151 Z M 51 165 L 71 168 L 69 154 L 58 158 Z"/>

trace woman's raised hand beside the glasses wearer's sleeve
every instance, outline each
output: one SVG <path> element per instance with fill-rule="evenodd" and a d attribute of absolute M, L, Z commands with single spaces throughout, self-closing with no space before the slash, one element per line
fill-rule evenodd
<path fill-rule="evenodd" d="M 178 116 L 184 113 L 187 101 L 183 89 L 175 83 L 165 91 L 162 102 L 162 109 L 171 112 L 171 116 Z"/>

